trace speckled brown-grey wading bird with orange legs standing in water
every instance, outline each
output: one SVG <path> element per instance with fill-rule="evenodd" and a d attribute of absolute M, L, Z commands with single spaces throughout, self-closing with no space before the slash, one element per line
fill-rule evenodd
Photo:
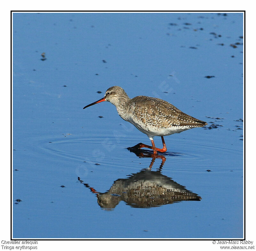
<path fill-rule="evenodd" d="M 149 148 L 153 150 L 153 154 L 167 151 L 164 136 L 207 125 L 206 122 L 183 113 L 167 101 L 148 96 L 137 96 L 130 99 L 120 86 L 108 88 L 103 98 L 83 109 L 103 101 L 108 101 L 116 106 L 117 113 L 122 119 L 132 123 L 151 140 L 152 146 L 139 143 L 133 148 Z M 153 140 L 155 136 L 161 137 L 162 149 L 156 148 Z"/>

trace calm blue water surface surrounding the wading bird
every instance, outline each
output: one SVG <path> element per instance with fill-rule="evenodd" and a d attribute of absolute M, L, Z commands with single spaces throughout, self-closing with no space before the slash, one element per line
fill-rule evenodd
<path fill-rule="evenodd" d="M 13 13 L 13 238 L 243 238 L 242 36 L 242 13 Z M 82 109 L 113 85 L 208 125 L 150 166 L 112 104 Z"/>

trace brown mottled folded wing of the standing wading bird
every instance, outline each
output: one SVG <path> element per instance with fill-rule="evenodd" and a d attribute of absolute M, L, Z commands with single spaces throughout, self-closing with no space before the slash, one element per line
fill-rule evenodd
<path fill-rule="evenodd" d="M 143 123 L 156 127 L 204 126 L 206 122 L 183 113 L 167 101 L 147 96 L 137 96 L 130 100 L 130 112 Z"/>

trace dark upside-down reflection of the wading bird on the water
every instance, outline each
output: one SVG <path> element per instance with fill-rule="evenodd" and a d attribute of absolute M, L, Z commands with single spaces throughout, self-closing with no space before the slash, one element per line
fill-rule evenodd
<path fill-rule="evenodd" d="M 131 151 L 131 149 L 129 149 Z M 166 158 L 149 152 L 135 152 L 142 158 L 151 158 L 148 168 L 132 173 L 129 178 L 114 181 L 111 188 L 100 193 L 78 177 L 78 181 L 96 194 L 98 204 L 105 210 L 113 210 L 120 201 L 134 208 L 151 208 L 180 201 L 200 201 L 202 198 L 161 173 Z M 157 171 L 151 171 L 156 159 L 162 159 Z"/>

